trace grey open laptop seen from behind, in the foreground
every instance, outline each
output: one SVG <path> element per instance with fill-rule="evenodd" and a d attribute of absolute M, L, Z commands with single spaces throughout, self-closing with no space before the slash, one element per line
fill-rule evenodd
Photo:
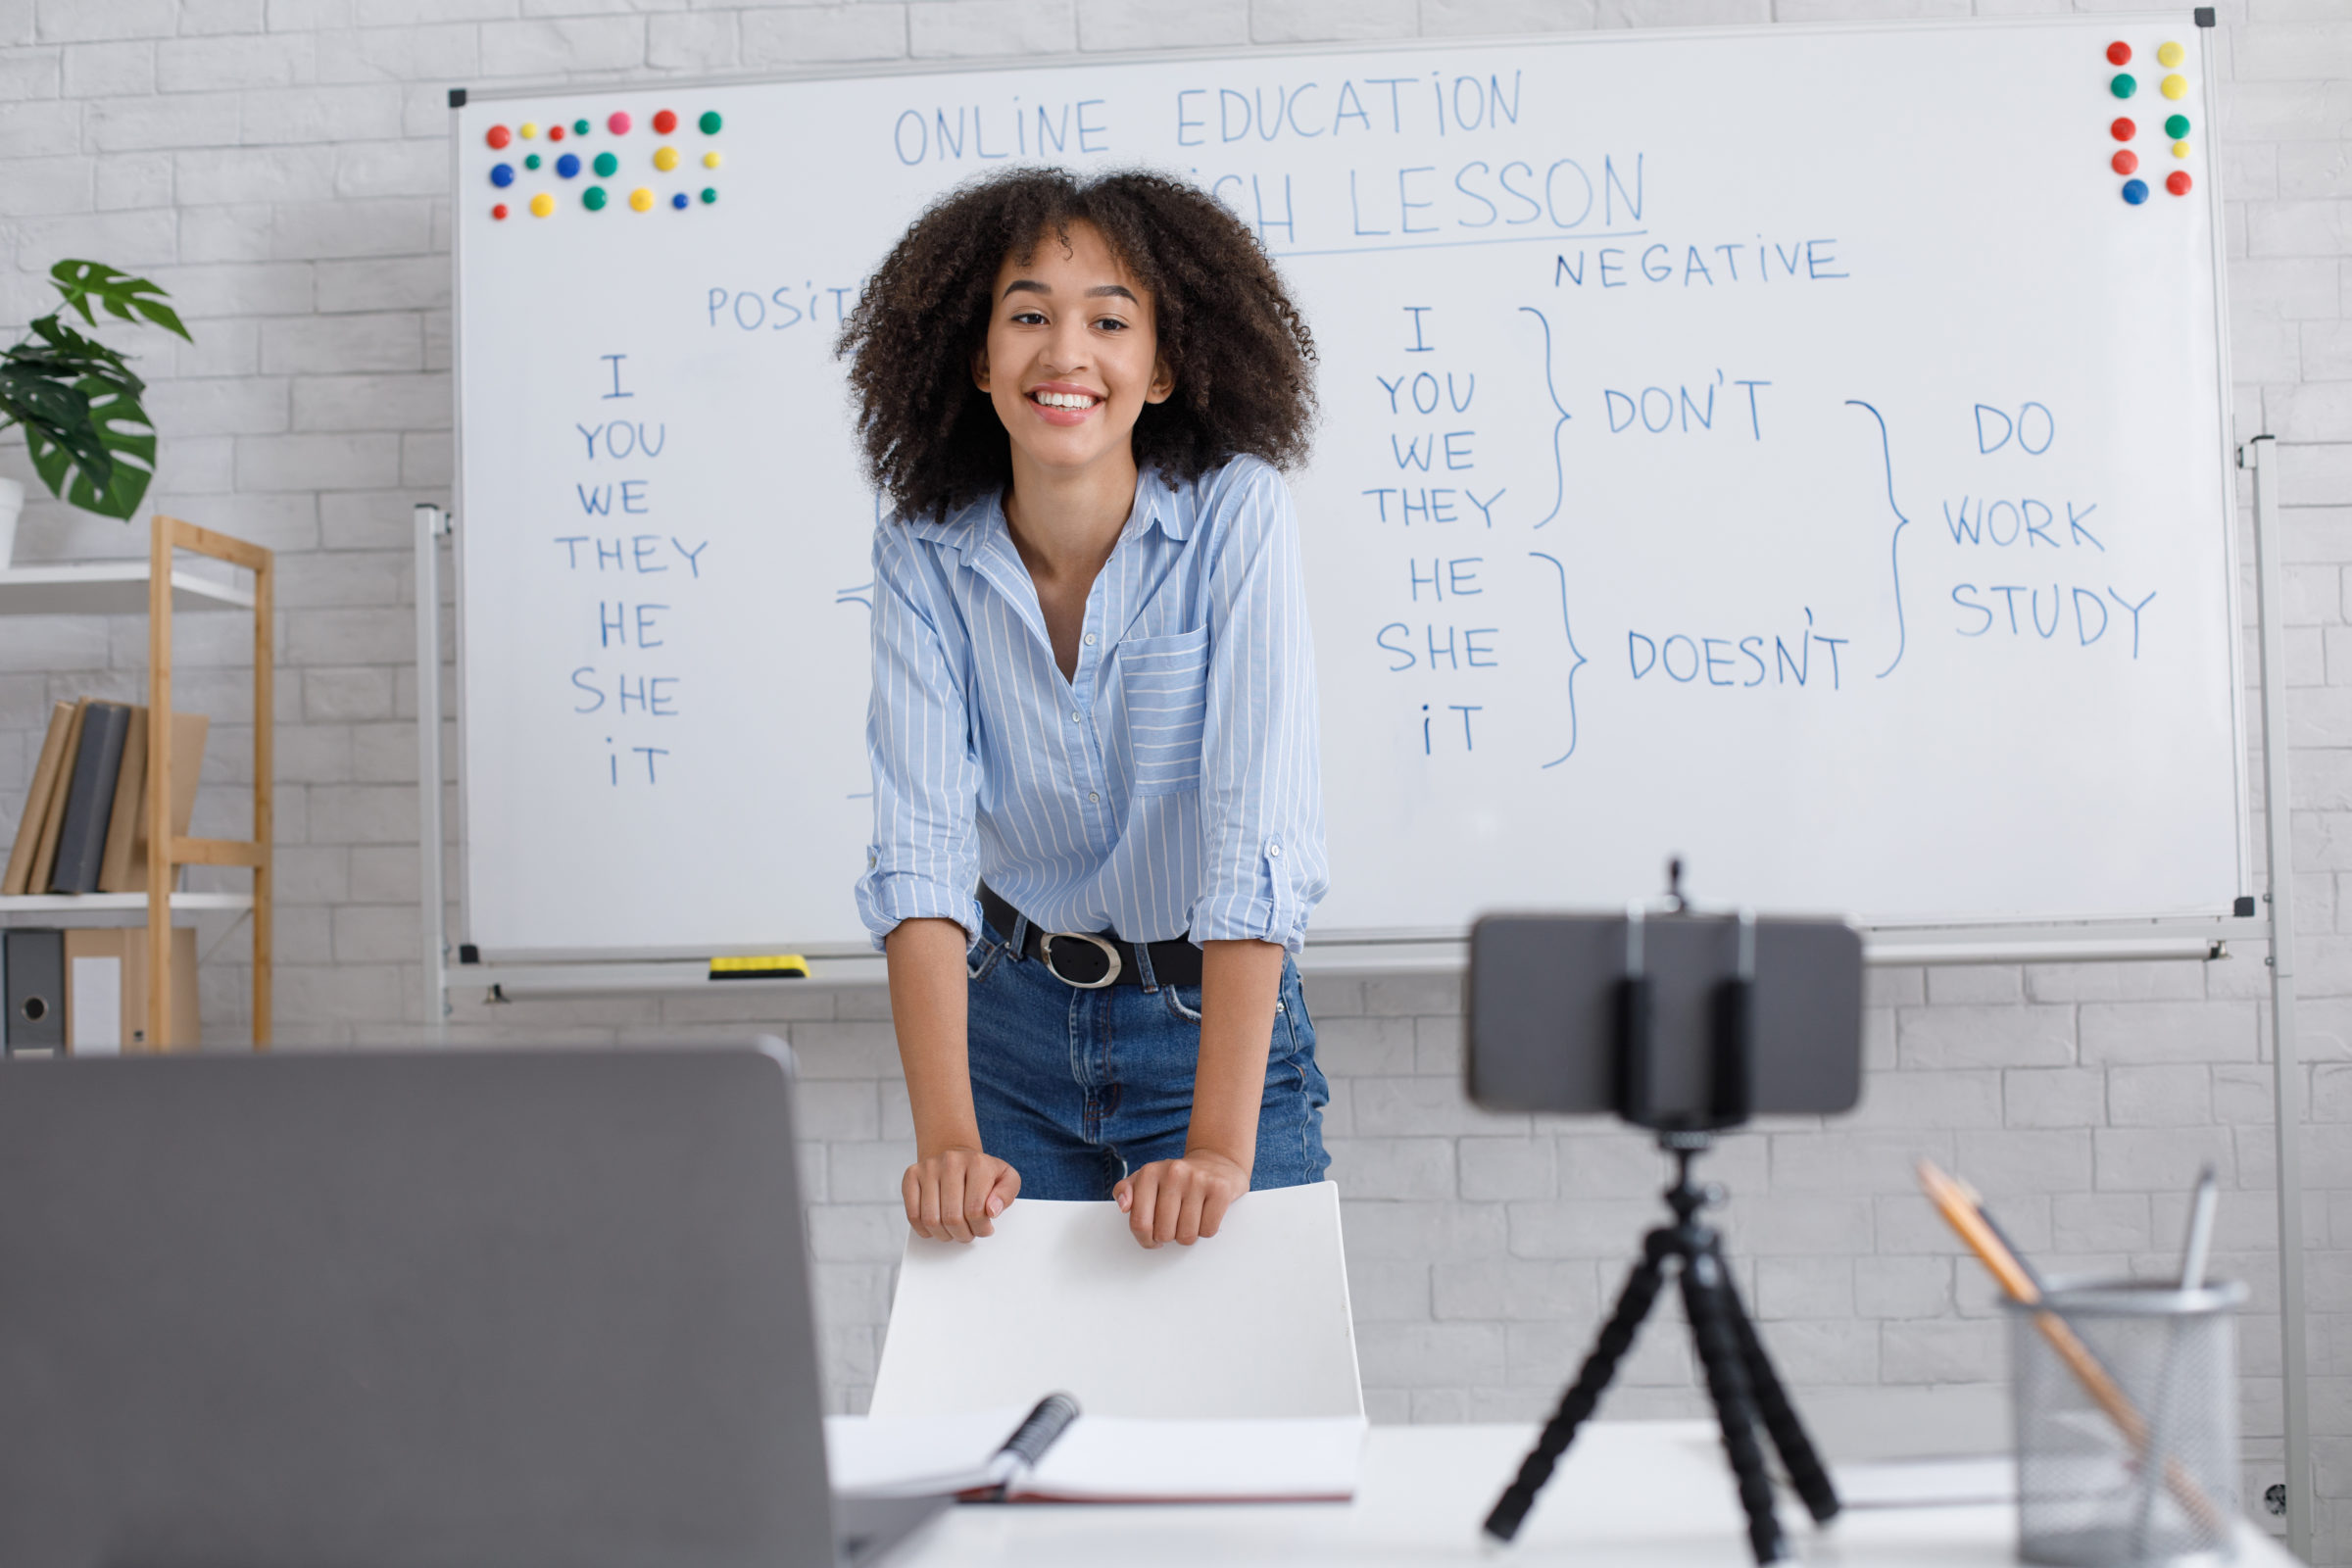
<path fill-rule="evenodd" d="M 0 1563 L 842 1568 L 781 1044 L 0 1067 Z"/>

